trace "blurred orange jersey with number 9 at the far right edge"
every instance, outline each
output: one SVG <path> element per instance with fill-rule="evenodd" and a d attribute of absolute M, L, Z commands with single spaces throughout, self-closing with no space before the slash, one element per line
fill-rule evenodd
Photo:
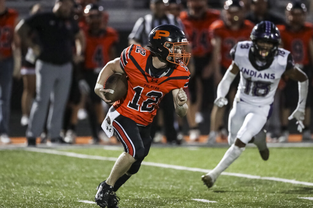
<path fill-rule="evenodd" d="M 288 30 L 285 25 L 277 26 L 280 31 L 281 40 L 284 49 L 291 52 L 295 63 L 308 65 L 309 59 L 309 42 L 313 38 L 313 25 L 305 23 L 302 30 L 293 32 Z"/>

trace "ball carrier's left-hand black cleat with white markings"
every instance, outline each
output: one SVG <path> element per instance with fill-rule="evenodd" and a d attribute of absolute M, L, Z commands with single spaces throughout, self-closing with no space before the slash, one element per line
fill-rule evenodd
<path fill-rule="evenodd" d="M 98 191 L 95 196 L 95 202 L 98 206 L 105 208 L 106 206 L 108 206 L 110 195 L 113 192 L 113 186 L 110 186 L 106 184 L 105 181 L 103 181 L 99 184 L 97 189 Z"/>

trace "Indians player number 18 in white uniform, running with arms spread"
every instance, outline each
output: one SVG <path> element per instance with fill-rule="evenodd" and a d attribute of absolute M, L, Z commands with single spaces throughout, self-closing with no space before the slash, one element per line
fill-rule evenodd
<path fill-rule="evenodd" d="M 298 81 L 298 106 L 289 119 L 297 120 L 300 132 L 304 128 L 302 121 L 309 85 L 307 76 L 295 67 L 290 52 L 278 47 L 280 32 L 274 23 L 260 22 L 254 26 L 250 38 L 252 41 L 238 42 L 233 47 L 230 52 L 233 62 L 218 85 L 214 104 L 222 107 L 228 103 L 225 96 L 233 79 L 240 72 L 237 94 L 228 119 L 228 143 L 231 147 L 218 165 L 202 176 L 202 181 L 208 188 L 240 156 L 249 142 L 256 144 L 263 160 L 269 158 L 262 128 L 271 114 L 274 94 L 283 74 Z"/>

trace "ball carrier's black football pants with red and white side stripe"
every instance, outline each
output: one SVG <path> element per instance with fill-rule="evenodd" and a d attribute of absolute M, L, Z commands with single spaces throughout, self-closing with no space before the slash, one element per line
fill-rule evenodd
<path fill-rule="evenodd" d="M 113 121 L 115 136 L 124 146 L 124 151 L 136 160 L 143 160 L 148 155 L 151 146 L 151 124 L 141 126 L 130 118 L 119 115 Z"/>

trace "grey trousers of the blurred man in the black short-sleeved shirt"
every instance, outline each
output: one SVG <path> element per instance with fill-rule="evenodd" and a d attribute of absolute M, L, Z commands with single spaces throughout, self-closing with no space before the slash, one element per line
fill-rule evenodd
<path fill-rule="evenodd" d="M 71 86 L 72 69 L 70 62 L 54 65 L 42 60 L 36 61 L 36 99 L 30 111 L 27 137 L 38 137 L 43 132 L 50 98 L 48 137 L 59 137 Z"/>

